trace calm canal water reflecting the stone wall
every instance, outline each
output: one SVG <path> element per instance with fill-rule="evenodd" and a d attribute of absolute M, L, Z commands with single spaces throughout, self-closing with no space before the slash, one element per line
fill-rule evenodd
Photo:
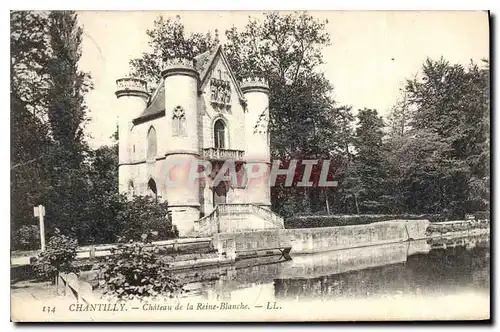
<path fill-rule="evenodd" d="M 187 277 L 188 275 L 186 275 Z M 489 302 L 489 236 L 242 260 L 190 275 L 186 297 L 211 301 L 439 298 L 464 294 Z"/>

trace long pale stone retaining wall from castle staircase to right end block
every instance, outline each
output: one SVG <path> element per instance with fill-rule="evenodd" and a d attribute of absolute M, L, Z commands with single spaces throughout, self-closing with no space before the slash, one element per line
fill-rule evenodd
<path fill-rule="evenodd" d="M 428 224 L 427 220 L 391 220 L 368 225 L 220 233 L 213 240 L 219 253 L 228 256 L 283 247 L 291 247 L 292 254 L 314 253 L 421 239 Z"/>

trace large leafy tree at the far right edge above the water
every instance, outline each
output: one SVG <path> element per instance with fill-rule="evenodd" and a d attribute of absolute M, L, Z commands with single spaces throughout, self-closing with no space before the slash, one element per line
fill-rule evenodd
<path fill-rule="evenodd" d="M 409 80 L 408 100 L 415 108 L 410 125 L 446 145 L 439 158 L 456 171 L 445 183 L 442 208 L 464 213 L 489 208 L 489 65 L 468 68 L 441 58 L 427 59 L 421 79 Z M 438 153 L 438 152 L 436 152 Z M 442 201 L 442 200 L 441 200 Z M 431 203 L 431 202 L 429 202 Z"/>

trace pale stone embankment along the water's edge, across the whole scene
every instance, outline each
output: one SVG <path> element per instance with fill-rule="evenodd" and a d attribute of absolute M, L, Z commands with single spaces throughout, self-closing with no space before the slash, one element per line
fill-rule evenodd
<path fill-rule="evenodd" d="M 358 248 L 409 240 L 446 236 L 489 234 L 489 220 L 457 220 L 430 223 L 428 220 L 389 220 L 363 225 L 269 229 L 218 233 L 205 238 L 179 238 L 151 243 L 159 247 L 173 269 L 231 264 L 240 258 L 315 253 Z M 93 261 L 111 255 L 116 245 L 80 247 L 77 261 Z M 12 253 L 11 267 L 30 264 L 36 252 L 28 256 Z"/>

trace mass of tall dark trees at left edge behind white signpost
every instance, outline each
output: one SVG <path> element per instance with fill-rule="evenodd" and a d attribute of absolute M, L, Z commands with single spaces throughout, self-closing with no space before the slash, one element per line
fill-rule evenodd
<path fill-rule="evenodd" d="M 92 84 L 78 69 L 81 36 L 74 12 L 11 12 L 13 236 L 33 224 L 39 204 L 48 236 L 80 225 L 93 158 L 84 135 Z"/>

